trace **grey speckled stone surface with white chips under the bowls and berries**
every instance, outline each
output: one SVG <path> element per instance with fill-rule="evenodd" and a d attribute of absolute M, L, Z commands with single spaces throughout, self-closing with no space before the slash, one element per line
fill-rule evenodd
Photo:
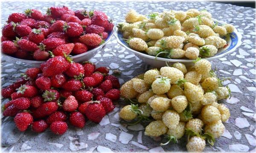
<path fill-rule="evenodd" d="M 242 45 L 236 52 L 224 58 L 212 61 L 212 65 L 218 67 L 217 74 L 221 77 L 230 77 L 232 81 L 225 81 L 232 91 L 232 98 L 223 101 L 230 108 L 231 117 L 224 123 L 226 130 L 223 136 L 218 138 L 214 147 L 207 146 L 205 151 L 254 151 L 256 146 L 255 129 L 255 9 L 229 4 L 212 2 L 2 2 L 1 23 L 4 24 L 12 12 L 23 12 L 25 9 L 34 8 L 46 12 L 49 6 L 68 6 L 71 9 L 99 9 L 112 17 L 114 23 L 124 20 L 128 9 L 146 14 L 148 12 L 163 12 L 164 10 L 207 9 L 218 20 L 232 23 L 242 34 Z M 110 69 L 122 71 L 120 82 L 130 80 L 134 76 L 144 72 L 148 66 L 134 54 L 128 52 L 111 39 L 104 49 L 90 60 L 97 66 L 108 66 Z M 28 65 L 20 62 L 10 63 L 2 57 L 1 63 L 2 87 L 6 87 L 15 81 L 19 75 L 25 72 Z M 6 102 L 7 100 L 2 100 Z M 3 103 L 2 103 L 3 104 Z M 49 130 L 44 133 L 33 133 L 30 129 L 20 133 L 15 128 L 12 118 L 2 116 L 2 151 L 185 151 L 186 140 L 180 139 L 178 144 L 169 144 L 159 147 L 160 139 L 154 141 L 145 136 L 143 127 L 138 124 L 134 127 L 125 127 L 119 123 L 117 105 L 115 111 L 108 114 L 101 124 L 87 122 L 82 129 L 70 126 L 67 133 L 62 136 L 54 136 Z M 163 138 L 162 138 L 163 139 Z"/>

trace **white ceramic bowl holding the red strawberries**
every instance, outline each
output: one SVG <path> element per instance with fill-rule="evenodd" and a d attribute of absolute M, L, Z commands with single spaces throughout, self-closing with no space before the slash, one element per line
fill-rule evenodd
<path fill-rule="evenodd" d="M 114 28 L 111 32 L 108 33 L 108 38 L 105 40 L 105 43 L 103 43 L 102 45 L 100 45 L 94 49 L 91 49 L 87 52 L 84 52 L 82 54 L 71 56 L 73 61 L 76 63 L 83 62 L 83 61 L 89 61 L 111 40 L 115 30 L 116 29 Z M 23 62 L 23 63 L 28 64 L 33 67 L 40 67 L 40 65 L 45 62 L 45 61 L 23 60 L 20 58 L 12 57 L 10 55 L 6 55 L 4 53 L 2 53 L 2 55 L 3 55 L 3 59 L 6 61 L 15 61 L 15 62 L 19 61 L 19 62 Z"/>

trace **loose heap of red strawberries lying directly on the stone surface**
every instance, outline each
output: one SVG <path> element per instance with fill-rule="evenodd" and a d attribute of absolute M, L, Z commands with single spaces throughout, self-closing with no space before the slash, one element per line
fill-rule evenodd
<path fill-rule="evenodd" d="M 15 116 L 20 131 L 30 124 L 34 132 L 50 127 L 55 134 L 67 131 L 67 119 L 83 128 L 86 120 L 99 123 L 119 99 L 119 80 L 109 69 L 90 62 L 74 63 L 71 58 L 55 56 L 40 68 L 29 68 L 22 78 L 2 89 L 3 115 Z"/>

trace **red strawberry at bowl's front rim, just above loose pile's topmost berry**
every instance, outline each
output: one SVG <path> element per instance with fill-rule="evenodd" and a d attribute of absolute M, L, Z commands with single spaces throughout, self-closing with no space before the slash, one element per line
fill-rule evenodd
<path fill-rule="evenodd" d="M 67 43 L 60 46 L 57 46 L 52 50 L 52 53 L 55 56 L 64 56 L 64 54 L 69 55 L 74 48 L 74 43 Z"/>

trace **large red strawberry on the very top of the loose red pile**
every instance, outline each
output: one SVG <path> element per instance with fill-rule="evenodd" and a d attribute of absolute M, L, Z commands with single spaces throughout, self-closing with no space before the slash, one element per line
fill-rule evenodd
<path fill-rule="evenodd" d="M 54 76 L 62 72 L 65 72 L 68 69 L 69 62 L 72 60 L 70 57 L 55 56 L 50 58 L 44 64 L 41 64 L 41 70 L 44 76 Z"/>

